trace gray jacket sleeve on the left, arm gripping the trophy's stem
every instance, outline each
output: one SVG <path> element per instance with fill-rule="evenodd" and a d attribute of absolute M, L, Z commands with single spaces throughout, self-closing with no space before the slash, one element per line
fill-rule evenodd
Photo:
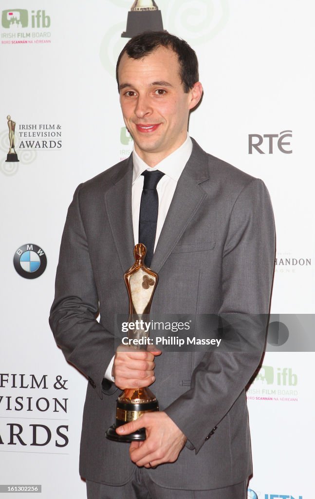
<path fill-rule="evenodd" d="M 96 320 L 99 301 L 80 214 L 80 188 L 69 206 L 62 235 L 49 323 L 67 361 L 88 378 L 102 398 L 103 393 L 117 390 L 104 379 L 115 353 L 114 337 Z"/>

